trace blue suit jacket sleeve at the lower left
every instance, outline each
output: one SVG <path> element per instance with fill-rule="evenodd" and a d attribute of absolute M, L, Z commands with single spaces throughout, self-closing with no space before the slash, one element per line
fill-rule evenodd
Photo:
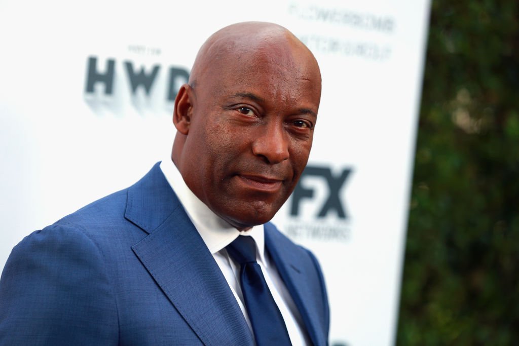
<path fill-rule="evenodd" d="M 0 280 L 1 345 L 118 343 L 117 307 L 99 247 L 54 225 L 13 248 Z"/>

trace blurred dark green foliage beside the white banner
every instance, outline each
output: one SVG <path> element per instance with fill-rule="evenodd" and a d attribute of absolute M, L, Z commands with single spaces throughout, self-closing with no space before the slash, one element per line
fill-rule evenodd
<path fill-rule="evenodd" d="M 519 344 L 518 23 L 432 2 L 399 345 Z"/>

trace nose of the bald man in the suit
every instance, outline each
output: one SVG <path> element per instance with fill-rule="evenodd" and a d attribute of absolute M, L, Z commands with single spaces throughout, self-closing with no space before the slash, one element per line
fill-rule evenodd
<path fill-rule="evenodd" d="M 252 144 L 254 155 L 261 156 L 272 164 L 289 158 L 290 138 L 283 124 L 273 122 L 261 126 L 258 130 Z"/>

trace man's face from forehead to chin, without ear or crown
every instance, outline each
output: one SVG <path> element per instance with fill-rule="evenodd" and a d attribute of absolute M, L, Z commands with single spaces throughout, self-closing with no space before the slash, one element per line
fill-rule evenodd
<path fill-rule="evenodd" d="M 238 229 L 270 220 L 306 166 L 321 94 L 307 60 L 259 50 L 210 68 L 191 90 L 182 175 Z"/>

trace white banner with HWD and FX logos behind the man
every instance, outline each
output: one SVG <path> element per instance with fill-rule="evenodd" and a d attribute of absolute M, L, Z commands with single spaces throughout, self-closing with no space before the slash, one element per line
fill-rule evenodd
<path fill-rule="evenodd" d="M 429 0 L 0 4 L 0 269 L 24 236 L 170 153 L 198 48 L 276 22 L 315 54 L 308 167 L 275 217 L 324 269 L 332 345 L 394 342 Z"/>

